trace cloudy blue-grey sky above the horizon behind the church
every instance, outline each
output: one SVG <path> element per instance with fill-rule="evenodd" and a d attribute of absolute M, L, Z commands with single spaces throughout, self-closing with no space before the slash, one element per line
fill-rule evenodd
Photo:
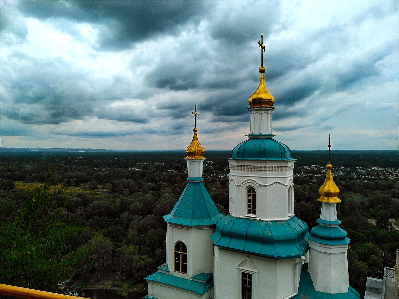
<path fill-rule="evenodd" d="M 290 149 L 398 149 L 394 0 L 0 0 L 6 148 L 232 149 L 275 97 Z"/>

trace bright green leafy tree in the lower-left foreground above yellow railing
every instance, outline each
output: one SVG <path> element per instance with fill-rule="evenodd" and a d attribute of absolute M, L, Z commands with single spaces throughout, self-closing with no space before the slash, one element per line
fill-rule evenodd
<path fill-rule="evenodd" d="M 2 283 L 55 291 L 74 272 L 79 254 L 67 246 L 73 229 L 58 220 L 52 199 L 63 190 L 49 191 L 50 173 L 27 199 L 0 199 Z"/>

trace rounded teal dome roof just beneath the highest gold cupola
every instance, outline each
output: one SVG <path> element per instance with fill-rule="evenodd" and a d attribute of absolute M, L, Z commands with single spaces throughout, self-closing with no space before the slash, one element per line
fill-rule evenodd
<path fill-rule="evenodd" d="M 248 135 L 248 140 L 233 148 L 231 159 L 295 161 L 288 146 L 274 140 L 273 135 L 257 135 Z"/>

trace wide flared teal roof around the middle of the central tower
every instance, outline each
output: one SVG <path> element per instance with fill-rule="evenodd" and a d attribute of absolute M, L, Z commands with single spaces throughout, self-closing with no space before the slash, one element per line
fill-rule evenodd
<path fill-rule="evenodd" d="M 274 259 L 299 258 L 308 249 L 308 225 L 297 217 L 261 221 L 227 215 L 211 235 L 215 246 Z"/>

